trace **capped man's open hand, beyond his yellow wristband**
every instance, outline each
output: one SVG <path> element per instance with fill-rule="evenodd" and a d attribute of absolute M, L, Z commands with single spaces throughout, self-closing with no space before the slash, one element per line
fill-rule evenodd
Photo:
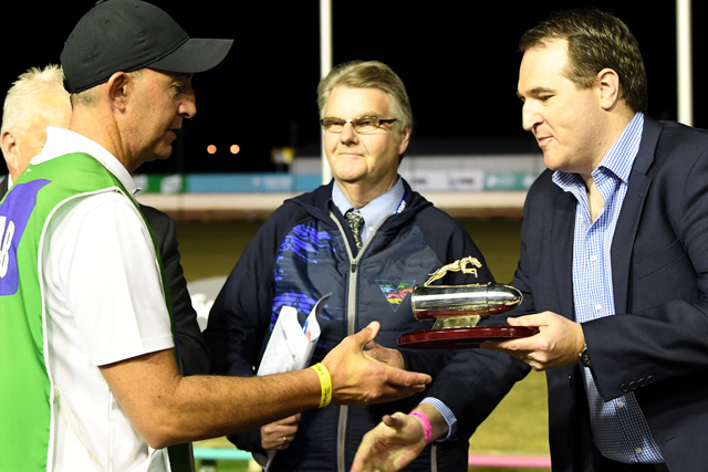
<path fill-rule="evenodd" d="M 322 360 L 332 377 L 332 403 L 366 406 L 399 400 L 425 390 L 427 374 L 409 373 L 378 361 L 364 352 L 381 325 L 372 322 L 345 337 Z"/>

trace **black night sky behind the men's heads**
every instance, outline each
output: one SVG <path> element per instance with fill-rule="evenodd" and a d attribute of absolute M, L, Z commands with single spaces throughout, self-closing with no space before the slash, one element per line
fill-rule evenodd
<path fill-rule="evenodd" d="M 320 154 L 315 88 L 320 80 L 319 1 L 154 1 L 191 36 L 233 38 L 216 69 L 194 85 L 198 114 L 185 123 L 175 155 L 140 172 L 275 170 L 271 148 Z M 702 51 L 708 10 L 694 1 L 694 124 L 708 127 Z M 33 65 L 59 62 L 63 41 L 92 1 L 3 6 L 0 88 Z M 649 115 L 676 119 L 675 2 L 343 1 L 333 0 L 333 63 L 391 65 L 414 109 L 407 156 L 534 151 L 516 97 L 520 35 L 552 11 L 597 7 L 623 19 L 639 41 L 649 82 Z M 2 92 L 4 94 L 4 92 Z M 209 144 L 219 151 L 209 155 Z M 241 153 L 228 153 L 238 144 Z M 0 167 L 0 174 L 6 171 Z"/>

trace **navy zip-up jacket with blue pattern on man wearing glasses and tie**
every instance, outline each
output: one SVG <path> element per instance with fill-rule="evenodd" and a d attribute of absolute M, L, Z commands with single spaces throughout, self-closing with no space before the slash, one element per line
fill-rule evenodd
<path fill-rule="evenodd" d="M 482 262 L 478 277 L 450 273 L 436 283 L 493 281 L 467 231 L 419 193 L 406 188 L 405 209 L 385 219 L 358 251 L 331 201 L 332 185 L 287 200 L 251 240 L 218 295 L 205 336 L 215 374 L 252 376 L 284 305 L 303 323 L 314 303 L 332 292 L 319 317 L 322 335 L 312 364 L 345 336 L 381 323 L 376 342 L 396 347 L 404 333 L 430 328 L 410 311 L 413 286 L 440 266 L 467 255 Z M 452 353 L 402 349 L 408 370 L 435 375 Z M 384 413 L 409 411 L 425 392 L 394 403 L 330 406 L 302 415 L 290 447 L 271 471 L 348 471 L 364 433 Z M 260 431 L 229 438 L 239 449 L 262 452 Z M 406 470 L 467 471 L 468 438 L 428 445 Z"/>

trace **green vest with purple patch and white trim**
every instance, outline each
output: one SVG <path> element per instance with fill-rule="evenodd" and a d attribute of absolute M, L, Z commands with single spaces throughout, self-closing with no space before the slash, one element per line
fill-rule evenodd
<path fill-rule="evenodd" d="M 110 191 L 122 192 L 135 203 L 121 181 L 93 157 L 70 154 L 30 166 L 0 201 L 1 471 L 45 471 L 49 465 L 56 399 L 46 363 L 41 283 L 46 229 L 63 204 Z M 155 252 L 162 269 L 157 247 Z M 169 290 L 164 293 L 171 312 Z"/>

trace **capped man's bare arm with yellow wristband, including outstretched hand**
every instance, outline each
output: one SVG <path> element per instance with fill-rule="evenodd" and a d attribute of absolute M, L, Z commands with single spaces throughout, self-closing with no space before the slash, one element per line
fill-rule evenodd
<path fill-rule="evenodd" d="M 100 367 L 135 429 L 153 448 L 246 431 L 326 403 L 365 406 L 423 391 L 424 374 L 366 356 L 378 324 L 346 337 L 320 365 L 263 377 L 181 377 L 169 349 Z M 323 401 L 326 400 L 326 401 Z"/>

